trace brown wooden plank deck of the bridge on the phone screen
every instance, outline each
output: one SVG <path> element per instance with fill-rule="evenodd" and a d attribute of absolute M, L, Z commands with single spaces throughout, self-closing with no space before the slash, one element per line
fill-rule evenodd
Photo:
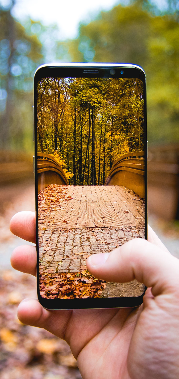
<path fill-rule="evenodd" d="M 54 191 L 57 201 L 54 202 Z M 46 189 L 44 189 L 46 191 Z M 39 220 L 40 229 L 144 227 L 144 200 L 121 186 L 65 186 L 48 189 L 52 211 Z M 60 198 L 59 198 L 60 196 Z M 44 206 L 44 204 L 43 204 Z"/>

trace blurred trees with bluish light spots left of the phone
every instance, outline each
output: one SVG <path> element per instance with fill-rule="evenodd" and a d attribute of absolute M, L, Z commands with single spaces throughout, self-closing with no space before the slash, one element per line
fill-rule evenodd
<path fill-rule="evenodd" d="M 0 9 L 0 146 L 32 150 L 34 71 L 42 60 L 35 35 Z"/>

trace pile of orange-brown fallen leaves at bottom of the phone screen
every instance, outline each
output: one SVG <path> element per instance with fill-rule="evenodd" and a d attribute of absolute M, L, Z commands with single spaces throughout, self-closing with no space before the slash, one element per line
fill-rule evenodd
<path fill-rule="evenodd" d="M 40 275 L 40 294 L 46 299 L 99 298 L 105 288 L 106 282 L 95 279 L 88 270 Z"/>

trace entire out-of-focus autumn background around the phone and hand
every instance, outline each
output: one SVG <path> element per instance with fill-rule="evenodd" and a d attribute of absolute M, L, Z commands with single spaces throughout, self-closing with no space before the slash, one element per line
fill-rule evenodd
<path fill-rule="evenodd" d="M 0 0 L 0 371 L 2 379 L 81 378 L 68 345 L 20 324 L 35 279 L 11 269 L 24 241 L 11 217 L 34 210 L 33 77 L 40 64 L 124 62 L 147 76 L 149 224 L 179 258 L 179 1 Z"/>

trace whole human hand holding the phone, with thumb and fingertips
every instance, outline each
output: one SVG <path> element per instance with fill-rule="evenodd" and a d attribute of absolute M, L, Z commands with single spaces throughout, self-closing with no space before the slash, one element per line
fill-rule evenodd
<path fill-rule="evenodd" d="M 10 228 L 35 242 L 34 213 L 17 213 Z M 83 379 L 179 378 L 179 261 L 150 227 L 148 239 L 131 240 L 87 260 L 98 278 L 137 279 L 151 287 L 139 308 L 50 311 L 34 299 L 19 305 L 22 323 L 45 328 L 69 343 Z M 36 263 L 34 246 L 20 246 L 12 253 L 12 267 L 19 271 L 35 275 Z"/>

